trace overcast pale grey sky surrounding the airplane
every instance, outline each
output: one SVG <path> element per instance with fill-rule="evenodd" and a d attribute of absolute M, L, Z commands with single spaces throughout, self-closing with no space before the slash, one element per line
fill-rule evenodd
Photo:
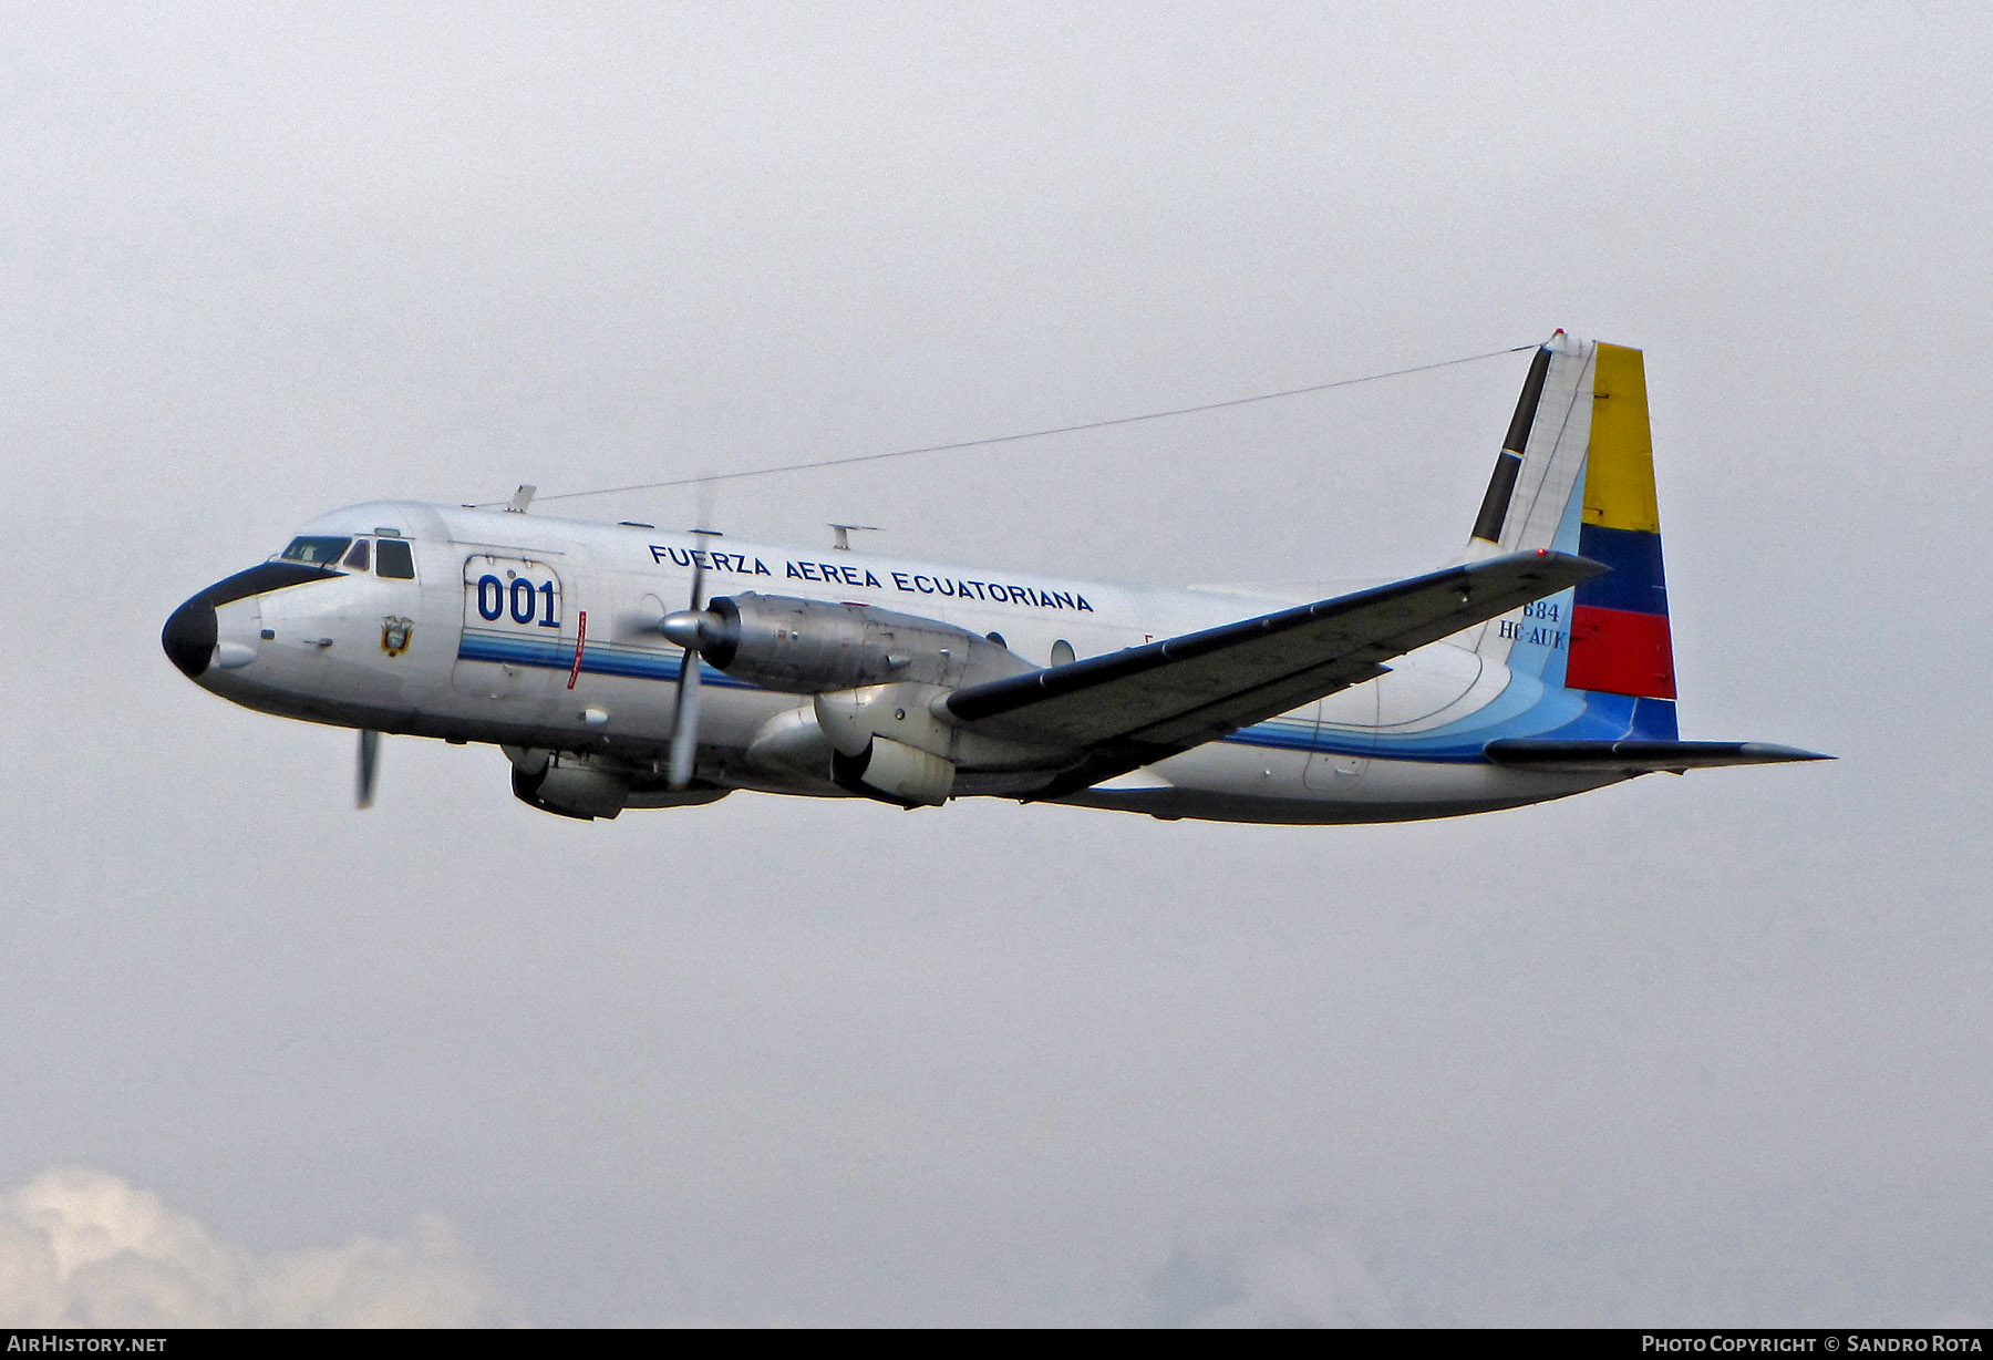
<path fill-rule="evenodd" d="M 6 4 L 0 1322 L 1993 1318 L 1975 4 Z M 313 514 L 1646 351 L 1682 730 L 1405 828 L 233 708 Z M 729 483 L 1160 582 L 1461 544 L 1525 355 Z M 562 512 L 680 524 L 690 495 Z"/>

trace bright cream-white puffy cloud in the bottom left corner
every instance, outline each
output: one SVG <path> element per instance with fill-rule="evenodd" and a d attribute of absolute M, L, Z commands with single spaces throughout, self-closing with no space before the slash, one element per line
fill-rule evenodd
<path fill-rule="evenodd" d="M 0 1194 L 8 1326 L 492 1326 L 506 1306 L 448 1222 L 253 1254 L 104 1171 Z"/>

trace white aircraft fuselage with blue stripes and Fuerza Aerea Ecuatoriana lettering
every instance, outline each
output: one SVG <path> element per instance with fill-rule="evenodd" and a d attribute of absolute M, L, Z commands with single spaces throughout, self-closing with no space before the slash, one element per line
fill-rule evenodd
<path fill-rule="evenodd" d="M 415 576 L 349 570 L 217 604 L 201 686 L 313 722 L 652 768 L 672 740 L 684 656 L 658 626 L 688 608 L 696 560 L 708 596 L 759 592 L 919 614 L 995 634 L 1036 666 L 1293 602 L 399 501 L 337 510 L 301 532 L 399 538 L 413 548 Z M 1537 700 L 1521 690 L 1539 682 L 1481 656 L 1477 636 L 1419 648 L 1379 680 L 1060 802 L 1164 818 L 1385 822 L 1563 798 L 1620 778 L 1431 754 L 1433 734 L 1495 704 Z M 715 670 L 704 690 L 704 784 L 843 794 L 825 774 L 809 696 Z M 979 788 L 969 778 L 961 792 Z"/>

